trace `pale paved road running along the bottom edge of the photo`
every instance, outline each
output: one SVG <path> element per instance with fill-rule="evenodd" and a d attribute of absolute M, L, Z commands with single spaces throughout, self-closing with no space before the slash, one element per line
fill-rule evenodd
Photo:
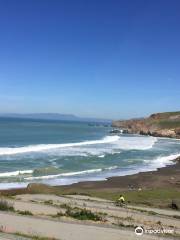
<path fill-rule="evenodd" d="M 21 232 L 27 235 L 54 237 L 59 240 L 139 240 L 139 237 L 130 230 L 65 223 L 4 212 L 0 212 L 0 226 L 1 228 L 3 226 L 4 231 L 12 233 Z M 154 235 L 143 236 L 143 240 L 157 239 L 163 240 L 164 238 L 157 238 Z"/>

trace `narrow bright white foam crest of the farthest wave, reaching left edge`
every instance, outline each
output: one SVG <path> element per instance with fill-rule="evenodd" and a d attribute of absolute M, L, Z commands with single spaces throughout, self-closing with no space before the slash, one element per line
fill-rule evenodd
<path fill-rule="evenodd" d="M 93 140 L 93 141 L 84 141 L 78 143 L 62 143 L 62 144 L 39 144 L 39 145 L 30 145 L 26 147 L 18 147 L 18 148 L 0 148 L 0 155 L 12 155 L 19 153 L 28 153 L 28 152 L 41 152 L 51 149 L 59 149 L 59 148 L 69 148 L 69 147 L 80 147 L 86 145 L 97 145 L 97 144 L 108 144 L 113 143 L 119 140 L 119 136 L 106 136 L 101 140 Z"/>

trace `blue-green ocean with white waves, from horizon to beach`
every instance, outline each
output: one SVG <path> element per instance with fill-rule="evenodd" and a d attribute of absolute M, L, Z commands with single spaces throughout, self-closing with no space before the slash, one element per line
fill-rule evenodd
<path fill-rule="evenodd" d="M 0 189 L 67 185 L 173 164 L 180 141 L 111 135 L 107 124 L 0 118 Z"/>

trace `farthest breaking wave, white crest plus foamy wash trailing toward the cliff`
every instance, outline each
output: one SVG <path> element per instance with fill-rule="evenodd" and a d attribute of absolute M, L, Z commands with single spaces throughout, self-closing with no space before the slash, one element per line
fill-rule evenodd
<path fill-rule="evenodd" d="M 137 149 L 146 150 L 153 147 L 157 141 L 155 137 L 120 137 L 106 136 L 100 140 L 83 141 L 77 143 L 62 143 L 62 144 L 38 144 L 24 147 L 4 147 L 0 148 L 0 156 L 26 154 L 32 152 L 51 152 L 57 155 L 79 155 L 87 156 L 103 155 L 104 153 L 113 154 L 113 150 L 117 149 Z"/>

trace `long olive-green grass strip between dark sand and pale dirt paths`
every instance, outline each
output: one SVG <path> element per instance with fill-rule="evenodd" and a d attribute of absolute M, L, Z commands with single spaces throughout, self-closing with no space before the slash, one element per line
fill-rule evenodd
<path fill-rule="evenodd" d="M 131 190 L 131 191 L 120 191 L 119 188 L 106 188 L 106 189 L 96 189 L 96 188 L 78 188 L 78 187 L 52 187 L 44 184 L 29 184 L 26 190 L 26 193 L 29 194 L 55 194 L 57 196 L 62 195 L 71 195 L 71 194 L 80 194 L 88 195 L 91 197 L 99 197 L 102 199 L 116 201 L 119 198 L 119 195 L 122 194 L 125 197 L 125 200 L 128 204 L 132 205 L 145 205 L 152 207 L 162 207 L 169 208 L 169 205 L 172 203 L 172 200 L 180 202 L 180 190 L 177 188 L 156 188 L 148 190 Z M 24 191 L 22 193 L 24 193 Z M 3 195 L 7 194 L 20 194 L 20 190 L 9 190 L 1 191 Z M 47 201 L 46 204 L 50 204 L 50 201 Z M 64 204 L 63 204 L 64 205 Z M 61 207 L 63 207 L 63 205 Z M 66 206 L 64 205 L 64 208 Z"/>

